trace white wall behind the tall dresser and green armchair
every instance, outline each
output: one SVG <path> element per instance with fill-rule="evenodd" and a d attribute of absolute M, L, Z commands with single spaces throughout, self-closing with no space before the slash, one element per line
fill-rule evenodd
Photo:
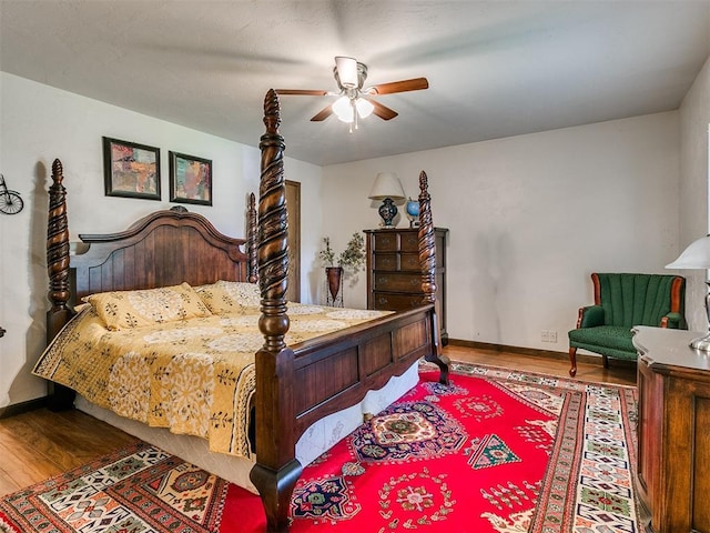
<path fill-rule="evenodd" d="M 377 227 L 367 200 L 377 172 L 397 172 L 415 198 L 420 170 L 435 225 L 449 229 L 453 339 L 566 352 L 577 309 L 594 301 L 591 272 L 668 273 L 676 258 L 677 112 L 326 167 L 336 250 Z M 364 273 L 345 299 L 366 302 Z"/>

